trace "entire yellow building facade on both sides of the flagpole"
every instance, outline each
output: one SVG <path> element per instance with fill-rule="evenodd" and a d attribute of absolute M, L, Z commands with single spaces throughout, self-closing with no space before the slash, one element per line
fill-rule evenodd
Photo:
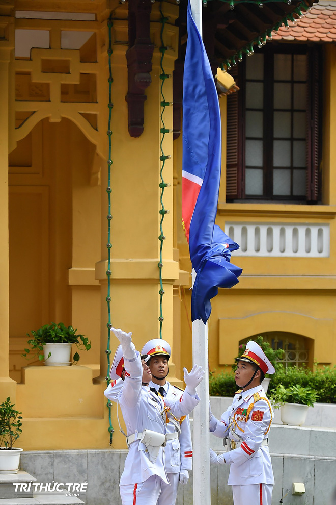
<path fill-rule="evenodd" d="M 21 8 L 32 8 L 29 0 L 21 4 Z M 0 236 L 3 244 L 9 244 L 9 249 L 6 246 L 0 251 L 3 280 L 0 290 L 3 349 L 0 400 L 10 395 L 22 411 L 20 445 L 26 450 L 109 447 L 108 409 L 103 390 L 108 373 L 105 353 L 108 335 L 105 132 L 108 117 L 106 19 L 110 10 L 104 2 L 90 5 L 93 12 L 96 9 L 96 19 L 90 22 L 94 35 L 81 49 L 81 59 L 76 50 L 64 53 L 59 36 L 62 29 L 81 30 L 83 25 L 53 20 L 47 23 L 50 49 L 33 49 L 32 60 L 14 60 L 14 24 L 19 29 L 45 29 L 46 21 L 18 20 L 8 9 L 4 13 L 8 40 L 0 43 L 0 106 L 5 111 L 0 122 L 0 170 L 3 173 Z M 141 348 L 159 332 L 160 13 L 158 4 L 154 4 L 151 15 L 151 37 L 155 46 L 152 83 L 146 90 L 145 130 L 135 139 L 128 134 L 125 102 L 127 5 L 116 2 L 109 7 L 115 18 L 111 56 L 114 78 L 111 322 L 132 331 L 136 347 Z M 38 8 L 42 9 L 43 5 L 40 3 Z M 74 12 L 78 5 L 70 2 L 67 9 Z M 165 72 L 171 74 L 178 56 L 178 29 L 174 24 L 178 8 L 163 3 L 162 9 L 169 17 L 164 32 L 164 44 L 169 49 L 163 65 Z M 37 62 L 41 63 L 41 58 L 48 60 L 51 54 L 55 59 L 67 55 L 70 61 L 67 77 L 60 77 L 62 69 L 54 62 L 52 67 L 45 67 L 46 71 L 41 72 Z M 240 340 L 274 331 L 306 337 L 316 361 L 336 364 L 333 343 L 336 170 L 332 140 L 336 121 L 332 96 L 336 84 L 335 63 L 336 48 L 327 46 L 322 205 L 226 203 L 226 98 L 220 100 L 223 170 L 217 224 L 224 228 L 226 221 L 233 219 L 328 222 L 331 242 L 330 257 L 317 260 L 235 258 L 233 254 L 233 262 L 243 268 L 243 274 L 237 286 L 220 290 L 212 302 L 208 323 L 211 370 L 219 371 L 232 364 Z M 84 80 L 82 74 L 91 77 Z M 42 98 L 37 98 L 37 90 Z M 21 93 L 16 100 L 15 91 Z M 164 96 L 167 102 L 172 100 L 171 79 L 164 84 Z M 77 110 L 78 100 L 81 114 Z M 36 110 L 35 114 L 22 123 L 24 114 L 32 109 Z M 164 114 L 165 127 L 170 129 L 172 108 L 166 108 Z M 21 127 L 15 128 L 20 123 Z M 165 216 L 163 225 L 166 240 L 163 244 L 162 337 L 172 345 L 170 377 L 177 382 L 182 378 L 183 366 L 190 368 L 192 365 L 191 266 L 181 226 L 182 136 L 173 143 L 172 136 L 167 134 L 163 149 L 172 158 L 166 160 L 164 167 L 164 180 L 171 184 L 164 192 L 164 206 L 171 212 Z M 77 327 L 78 332 L 91 339 L 92 349 L 82 352 L 80 364 L 74 367 L 61 369 L 37 363 L 37 366 L 25 367 L 21 352 L 26 332 L 53 319 Z M 111 357 L 117 346 L 118 341 L 112 335 Z M 111 415 L 116 428 L 115 406 Z M 125 440 L 118 429 L 111 448 L 125 448 Z"/>

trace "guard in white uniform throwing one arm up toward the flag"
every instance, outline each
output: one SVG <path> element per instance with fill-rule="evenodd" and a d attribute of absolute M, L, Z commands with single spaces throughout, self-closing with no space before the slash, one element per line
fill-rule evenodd
<path fill-rule="evenodd" d="M 129 452 L 120 478 L 121 499 L 123 505 L 156 505 L 162 482 L 168 483 L 163 449 L 167 438 L 171 438 L 166 432 L 167 412 L 180 419 L 193 410 L 199 402 L 196 387 L 204 371 L 197 365 L 190 373 L 184 369 L 185 393 L 173 403 L 165 403 L 149 389 L 151 372 L 145 360 L 136 355 L 132 334 L 114 328 L 112 331 L 121 343 L 123 358 L 117 356 L 117 349 L 111 373 L 118 372 L 125 380 L 122 387 L 111 383 L 104 394 L 116 401 L 113 390 L 120 389 L 117 402 L 127 429 Z"/>

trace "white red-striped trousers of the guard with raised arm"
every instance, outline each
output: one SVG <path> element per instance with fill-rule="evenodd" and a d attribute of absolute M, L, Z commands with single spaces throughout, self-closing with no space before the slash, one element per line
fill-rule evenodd
<path fill-rule="evenodd" d="M 151 475 L 147 481 L 119 486 L 123 505 L 156 505 L 163 481 Z"/>

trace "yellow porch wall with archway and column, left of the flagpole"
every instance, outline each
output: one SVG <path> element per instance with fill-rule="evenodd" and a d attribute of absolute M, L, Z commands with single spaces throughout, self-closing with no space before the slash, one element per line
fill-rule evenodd
<path fill-rule="evenodd" d="M 33 5 L 24 2 L 20 7 L 29 9 Z M 115 7 L 113 17 L 118 20 L 112 30 L 111 57 L 111 322 L 132 331 L 135 345 L 141 348 L 159 333 L 161 15 L 158 5 L 153 6 L 152 84 L 146 91 L 145 130 L 135 139 L 128 134 L 125 101 L 127 6 L 116 3 Z M 178 55 L 178 30 L 174 26 L 178 9 L 170 4 L 161 7 L 169 18 L 163 35 L 168 47 L 163 66 L 172 74 Z M 10 201 L 9 213 L 5 213 L 9 220 L 10 330 L 9 340 L 6 333 L 4 338 L 7 345 L 9 341 L 10 365 L 4 362 L 1 368 L 4 387 L 0 400 L 10 394 L 22 412 L 20 446 L 25 450 L 109 447 L 103 391 L 108 373 L 106 19 L 110 11 L 104 3 L 95 6 L 99 8 L 90 25 L 10 18 L 18 29 L 50 32 L 50 49 L 33 48 L 31 60 L 14 60 L 8 51 L 5 64 L 7 83 L 15 82 L 16 86 L 5 89 L 10 105 L 9 132 L 7 124 L 2 123 L 10 146 L 2 165 L 9 172 L 9 190 L 5 185 L 4 191 L 9 191 Z M 74 12 L 78 5 L 69 4 L 66 9 Z M 71 28 L 94 32 L 80 52 L 61 48 L 60 34 Z M 14 31 L 11 47 L 13 41 Z M 164 99 L 172 102 L 171 79 L 164 85 Z M 165 127 L 172 129 L 172 121 L 172 107 L 167 107 Z M 173 154 L 171 134 L 165 135 L 162 147 L 165 154 Z M 166 160 L 163 177 L 170 183 L 164 191 L 164 206 L 171 212 L 163 223 L 162 337 L 173 347 L 173 329 L 174 341 L 179 340 L 179 277 L 183 275 L 176 241 L 173 243 L 173 159 Z M 4 264 L 6 268 L 6 261 Z M 92 349 L 80 353 L 79 365 L 45 367 L 33 361 L 26 366 L 21 357 L 26 333 L 51 321 L 72 324 L 91 340 Z M 118 344 L 111 334 L 111 358 Z M 173 350 L 171 380 L 181 384 L 179 375 L 176 377 L 180 367 L 179 352 Z M 115 406 L 111 416 L 113 426 L 118 425 Z M 116 430 L 111 448 L 125 447 L 124 437 Z"/>

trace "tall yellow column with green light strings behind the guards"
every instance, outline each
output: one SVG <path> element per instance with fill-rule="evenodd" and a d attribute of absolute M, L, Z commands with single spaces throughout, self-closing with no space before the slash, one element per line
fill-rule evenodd
<path fill-rule="evenodd" d="M 163 3 L 162 9 L 170 18 L 165 33 L 169 47 L 163 67 L 172 74 L 177 58 L 178 29 L 174 26 L 177 10 L 171 4 Z M 167 11 L 167 12 L 165 12 Z M 159 52 L 160 15 L 153 5 L 151 23 L 155 50 L 153 55 L 152 83 L 146 90 L 144 107 L 144 132 L 139 138 L 131 138 L 127 130 L 127 68 L 125 66 L 125 45 L 113 46 L 111 58 L 114 82 L 111 99 L 114 104 L 111 119 L 112 154 L 111 166 L 111 323 L 125 331 L 133 332 L 137 349 L 150 338 L 159 337 L 159 248 L 160 242 L 160 123 L 161 114 L 161 68 Z M 114 21 L 114 40 L 123 40 L 127 23 Z M 165 36 L 165 35 L 164 35 Z M 117 77 L 116 77 L 117 76 Z M 107 81 L 106 75 L 106 81 Z M 172 80 L 164 84 L 167 102 L 172 100 Z M 107 104 L 107 99 L 106 99 Z M 172 107 L 165 110 L 165 128 L 172 129 Z M 106 124 L 107 129 L 107 124 Z M 165 155 L 173 155 L 172 134 L 166 134 L 163 150 Z M 163 328 L 162 338 L 173 342 L 173 284 L 179 277 L 178 262 L 173 258 L 173 164 L 167 159 L 164 166 L 164 181 L 170 183 L 164 191 L 164 207 L 170 210 L 164 218 L 163 233 Z M 96 265 L 96 279 L 101 284 L 101 377 L 107 372 L 105 349 L 107 345 L 108 322 L 107 294 L 107 163 L 102 170 L 102 260 Z M 111 360 L 118 341 L 111 334 Z"/>

